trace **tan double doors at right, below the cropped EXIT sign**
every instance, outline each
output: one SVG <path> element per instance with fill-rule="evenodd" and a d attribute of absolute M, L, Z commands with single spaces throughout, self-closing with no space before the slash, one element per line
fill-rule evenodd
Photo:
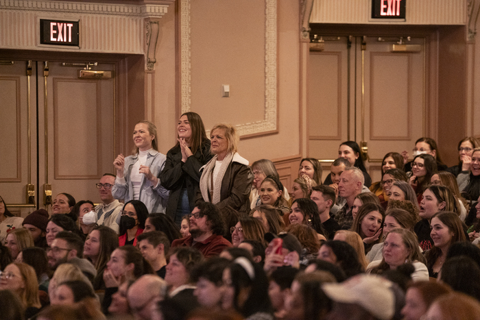
<path fill-rule="evenodd" d="M 385 153 L 409 150 L 424 135 L 424 39 L 409 38 L 406 47 L 400 37 L 322 40 L 323 51 L 309 56 L 309 156 L 328 174 L 339 144 L 355 140 L 379 181 Z"/>

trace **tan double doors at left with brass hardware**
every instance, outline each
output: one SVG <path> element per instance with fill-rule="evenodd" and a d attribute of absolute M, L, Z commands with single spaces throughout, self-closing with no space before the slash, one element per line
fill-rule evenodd
<path fill-rule="evenodd" d="M 114 65 L 95 69 L 113 75 Z M 51 61 L 0 64 L 0 195 L 16 214 L 51 211 L 58 193 L 98 202 L 95 183 L 113 171 L 114 77 L 85 79 L 79 70 Z"/>

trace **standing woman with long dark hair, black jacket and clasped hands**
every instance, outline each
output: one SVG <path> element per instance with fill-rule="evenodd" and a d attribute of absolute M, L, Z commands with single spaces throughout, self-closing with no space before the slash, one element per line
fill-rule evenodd
<path fill-rule="evenodd" d="M 162 186 L 170 190 L 166 214 L 180 227 L 182 217 L 194 206 L 200 183 L 200 168 L 213 157 L 204 123 L 195 112 L 185 112 L 177 123 L 177 144 L 167 153 L 160 173 Z"/>

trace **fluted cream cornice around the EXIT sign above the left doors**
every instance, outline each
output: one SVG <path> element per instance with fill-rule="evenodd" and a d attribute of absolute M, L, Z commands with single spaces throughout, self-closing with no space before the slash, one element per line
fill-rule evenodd
<path fill-rule="evenodd" d="M 160 19 L 168 5 L 0 0 L 2 49 L 144 54 L 145 20 Z M 39 19 L 80 21 L 80 49 L 40 45 Z M 18 26 L 12 29 L 13 26 Z"/>

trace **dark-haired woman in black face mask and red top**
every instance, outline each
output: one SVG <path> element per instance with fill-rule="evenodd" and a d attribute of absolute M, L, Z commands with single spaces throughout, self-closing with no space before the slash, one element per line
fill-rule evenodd
<path fill-rule="evenodd" d="M 119 246 L 136 246 L 136 237 L 145 229 L 145 221 L 148 218 L 148 210 L 145 204 L 139 200 L 130 200 L 121 211 Z"/>

